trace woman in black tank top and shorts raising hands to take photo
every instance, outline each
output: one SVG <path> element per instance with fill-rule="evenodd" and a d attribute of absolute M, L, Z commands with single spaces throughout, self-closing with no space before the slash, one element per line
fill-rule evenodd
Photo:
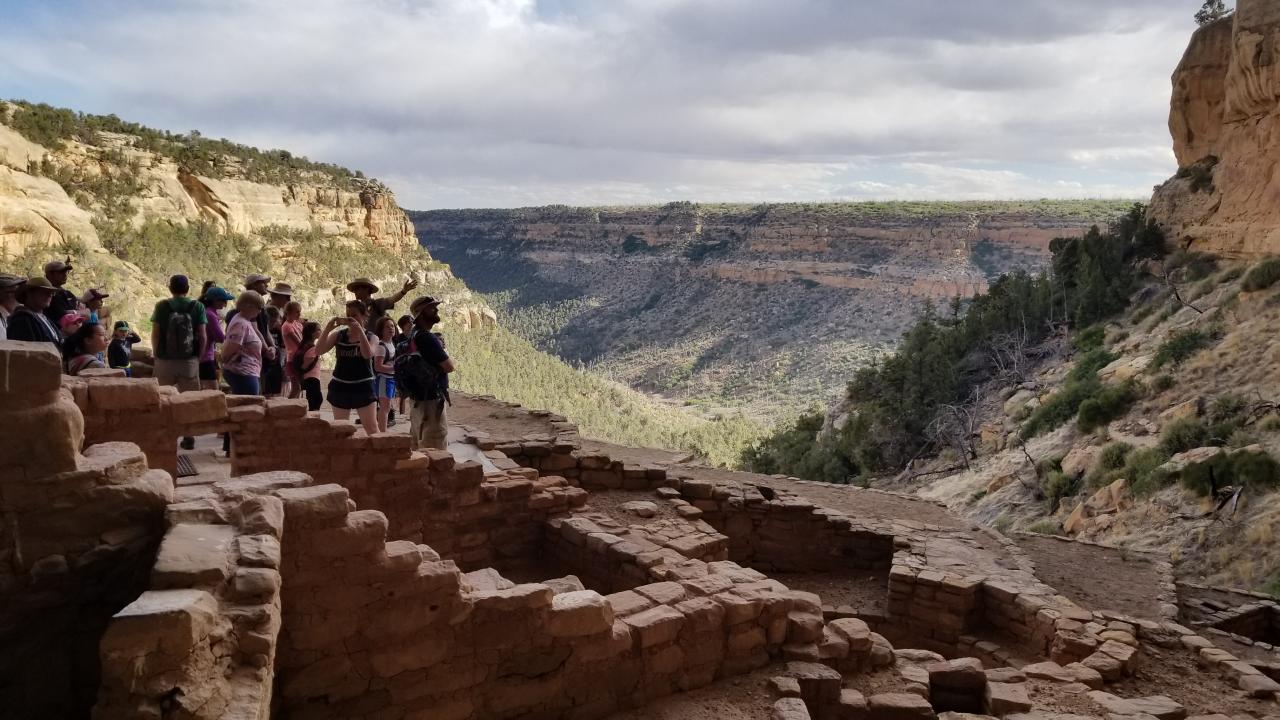
<path fill-rule="evenodd" d="M 330 350 L 338 360 L 329 380 L 329 405 L 335 420 L 346 420 L 355 410 L 366 434 L 378 429 L 378 402 L 374 395 L 374 337 L 365 329 L 369 309 L 360 300 L 347 301 L 347 316 L 332 318 L 320 333 L 316 355 Z"/>

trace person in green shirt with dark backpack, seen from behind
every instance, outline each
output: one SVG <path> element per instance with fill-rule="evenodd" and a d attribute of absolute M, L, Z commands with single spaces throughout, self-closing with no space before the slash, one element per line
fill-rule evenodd
<path fill-rule="evenodd" d="M 200 389 L 200 359 L 209 347 L 209 315 L 197 300 L 187 297 L 191 281 L 187 275 L 169 278 L 168 300 L 156 302 L 151 311 L 151 347 L 155 351 L 155 378 L 163 386 L 179 391 Z M 183 450 L 196 447 L 196 438 L 182 438 Z"/>

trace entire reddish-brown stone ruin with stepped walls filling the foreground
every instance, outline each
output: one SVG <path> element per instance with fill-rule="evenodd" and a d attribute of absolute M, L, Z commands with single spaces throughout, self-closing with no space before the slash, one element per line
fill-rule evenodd
<path fill-rule="evenodd" d="M 1102 692 L 1143 642 L 1280 689 L 1171 618 L 1074 605 L 996 533 L 630 465 L 563 419 L 461 459 L 300 401 L 63 377 L 38 345 L 0 373 L 6 716 L 589 720 L 767 666 L 774 717 L 1027 714 L 1028 678 L 1161 710 Z M 211 432 L 230 477 L 175 483 L 175 438 Z M 623 489 L 667 511 L 589 506 Z M 883 610 L 769 575 L 836 568 L 882 573 Z M 887 667 L 906 692 L 842 687 Z"/>

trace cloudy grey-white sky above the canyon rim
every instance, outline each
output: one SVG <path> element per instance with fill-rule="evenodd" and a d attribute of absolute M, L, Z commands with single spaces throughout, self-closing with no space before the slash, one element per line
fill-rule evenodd
<path fill-rule="evenodd" d="M 0 0 L 0 97 L 413 209 L 1146 197 L 1198 0 Z"/>

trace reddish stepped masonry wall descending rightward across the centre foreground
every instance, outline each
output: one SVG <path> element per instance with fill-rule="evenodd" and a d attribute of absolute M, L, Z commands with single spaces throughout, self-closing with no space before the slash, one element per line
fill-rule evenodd
<path fill-rule="evenodd" d="M 294 717 L 603 717 L 762 666 L 783 647 L 817 657 L 823 637 L 813 596 L 732 562 L 609 598 L 543 584 L 479 592 L 430 547 L 385 542 L 385 518 L 352 511 L 339 486 L 278 495 L 278 682 Z"/>

